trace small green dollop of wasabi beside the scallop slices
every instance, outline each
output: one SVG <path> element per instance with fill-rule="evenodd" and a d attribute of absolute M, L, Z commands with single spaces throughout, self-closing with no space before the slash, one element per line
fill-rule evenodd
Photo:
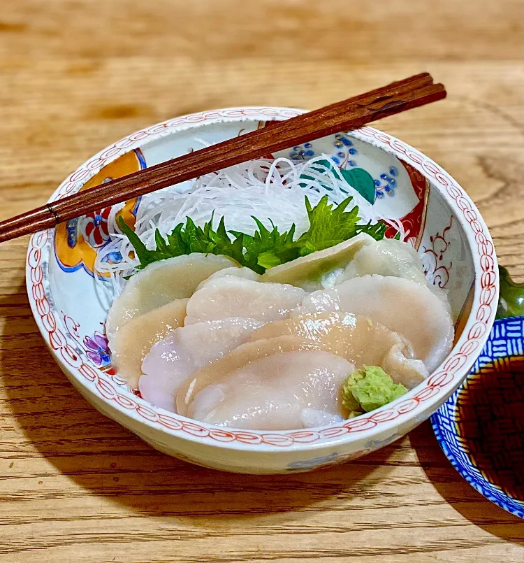
<path fill-rule="evenodd" d="M 394 383 L 391 376 L 378 366 L 365 366 L 347 376 L 342 385 L 342 405 L 350 417 L 369 413 L 384 406 L 407 392 L 406 387 Z"/>

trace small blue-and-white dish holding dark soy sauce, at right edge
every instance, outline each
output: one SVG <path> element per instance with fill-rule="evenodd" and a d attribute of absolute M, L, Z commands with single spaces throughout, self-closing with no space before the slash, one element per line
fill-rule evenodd
<path fill-rule="evenodd" d="M 524 317 L 495 321 L 470 376 L 434 415 L 437 441 L 474 489 L 524 518 Z"/>

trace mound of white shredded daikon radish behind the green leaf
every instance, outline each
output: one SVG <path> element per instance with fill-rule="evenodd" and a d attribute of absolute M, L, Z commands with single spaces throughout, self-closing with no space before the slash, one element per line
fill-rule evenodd
<path fill-rule="evenodd" d="M 305 196 L 312 206 L 325 195 L 335 204 L 351 196 L 348 209 L 357 205 L 361 222 L 375 224 L 384 220 L 344 178 L 337 178 L 328 169 L 325 163 L 329 160 L 328 155 L 303 162 L 286 158 L 253 160 L 197 178 L 186 192 L 180 193 L 180 188 L 172 186 L 147 194 L 136 212 L 136 234 L 147 248 L 154 249 L 156 229 L 165 237 L 187 217 L 201 226 L 212 216 L 214 225 L 224 217 L 226 229 L 253 234 L 255 216 L 265 227 L 275 225 L 281 232 L 295 223 L 299 236 L 309 228 Z M 108 304 L 122 291 L 126 277 L 136 271 L 139 263 L 115 221 L 121 207 L 115 206 L 110 213 L 108 230 L 112 240 L 99 249 L 95 262 L 96 285 L 103 293 L 99 296 Z"/>

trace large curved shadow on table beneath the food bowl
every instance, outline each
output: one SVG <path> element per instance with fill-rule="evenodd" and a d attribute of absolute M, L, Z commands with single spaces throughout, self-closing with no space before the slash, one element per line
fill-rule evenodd
<path fill-rule="evenodd" d="M 339 510 L 354 497 L 365 504 L 380 502 L 381 492 L 372 483 L 391 472 L 387 459 L 396 446 L 374 452 L 362 462 L 281 476 L 223 473 L 157 452 L 105 418 L 74 390 L 38 332 L 23 287 L 16 298 L 18 302 L 0 299 L 0 373 L 16 421 L 11 428 L 16 441 L 11 457 L 14 470 L 34 450 L 45 457 L 57 473 L 43 476 L 42 487 L 45 480 L 62 483 L 63 474 L 89 492 L 140 513 L 214 518 L 215 522 L 315 511 L 316 504 L 325 508 L 326 501 Z M 71 494 L 59 490 L 56 482 L 48 485 L 54 495 Z"/>

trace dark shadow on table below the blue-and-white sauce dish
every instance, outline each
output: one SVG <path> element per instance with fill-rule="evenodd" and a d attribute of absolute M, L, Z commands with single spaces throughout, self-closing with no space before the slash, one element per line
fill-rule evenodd
<path fill-rule="evenodd" d="M 506 541 L 524 545 L 524 522 L 469 485 L 440 449 L 429 421 L 409 434 L 422 469 L 440 496 L 464 518 Z"/>

